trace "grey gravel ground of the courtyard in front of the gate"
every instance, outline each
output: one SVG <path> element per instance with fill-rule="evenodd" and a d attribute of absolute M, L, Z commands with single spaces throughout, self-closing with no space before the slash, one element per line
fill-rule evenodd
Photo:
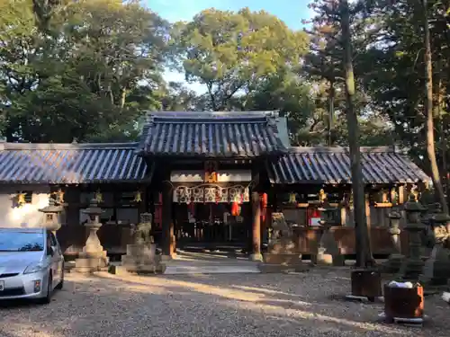
<path fill-rule="evenodd" d="M 382 304 L 338 299 L 349 270 L 157 277 L 67 274 L 48 306 L 0 307 L 0 336 L 450 336 L 450 307 L 427 297 L 423 327 L 378 323 Z M 338 296 L 334 297 L 334 296 Z"/>

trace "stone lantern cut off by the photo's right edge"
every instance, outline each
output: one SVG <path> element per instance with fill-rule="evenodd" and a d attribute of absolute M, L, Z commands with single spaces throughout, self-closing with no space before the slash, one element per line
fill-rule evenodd
<path fill-rule="evenodd" d="M 450 217 L 443 213 L 433 217 L 435 245 L 420 277 L 425 288 L 446 286 L 447 280 L 450 279 L 450 251 L 445 247 L 448 240 L 446 226 L 449 222 Z"/>

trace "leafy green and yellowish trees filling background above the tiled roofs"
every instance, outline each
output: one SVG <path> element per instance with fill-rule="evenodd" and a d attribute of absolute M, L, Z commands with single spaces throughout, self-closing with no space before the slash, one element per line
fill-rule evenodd
<path fill-rule="evenodd" d="M 135 139 L 145 111 L 279 110 L 293 144 L 348 145 L 339 1 L 309 31 L 266 12 L 215 9 L 172 26 L 138 1 L 0 0 L 0 129 L 33 142 Z M 430 0 L 437 151 L 448 157 L 450 6 Z M 361 145 L 424 157 L 421 22 L 409 0 L 351 8 Z M 167 43 L 168 42 L 168 43 Z M 195 93 L 165 83 L 175 60 Z"/>

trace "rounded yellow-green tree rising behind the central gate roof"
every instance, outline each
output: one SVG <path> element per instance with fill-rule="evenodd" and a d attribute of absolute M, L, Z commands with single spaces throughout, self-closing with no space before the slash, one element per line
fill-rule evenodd
<path fill-rule="evenodd" d="M 307 37 L 264 11 L 210 9 L 177 22 L 173 45 L 186 80 L 205 84 L 211 110 L 220 111 L 267 76 L 298 67 Z"/>

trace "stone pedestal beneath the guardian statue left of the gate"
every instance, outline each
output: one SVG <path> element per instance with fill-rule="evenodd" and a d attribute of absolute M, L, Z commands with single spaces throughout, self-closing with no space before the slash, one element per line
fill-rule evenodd
<path fill-rule="evenodd" d="M 121 265 L 128 272 L 162 272 L 164 265 L 156 251 L 156 244 L 127 244 L 127 254 L 121 257 Z"/>

